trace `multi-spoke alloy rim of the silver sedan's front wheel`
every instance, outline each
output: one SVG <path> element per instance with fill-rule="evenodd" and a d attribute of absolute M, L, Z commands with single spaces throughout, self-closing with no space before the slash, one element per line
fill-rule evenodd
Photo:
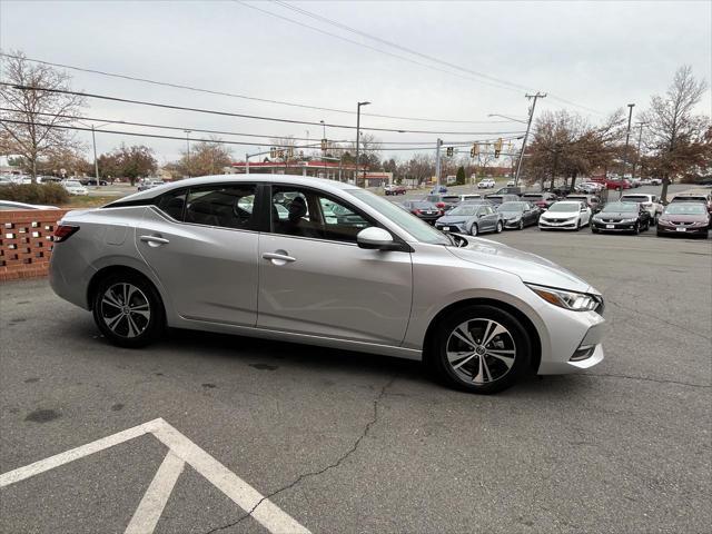
<path fill-rule="evenodd" d="M 512 334 L 492 319 L 462 323 L 449 334 L 445 350 L 454 374 L 475 385 L 501 379 L 516 358 Z"/>

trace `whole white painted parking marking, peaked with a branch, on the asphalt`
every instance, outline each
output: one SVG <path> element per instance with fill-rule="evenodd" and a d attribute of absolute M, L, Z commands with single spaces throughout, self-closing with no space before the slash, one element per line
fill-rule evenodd
<path fill-rule="evenodd" d="M 134 513 L 126 530 L 127 534 L 150 534 L 154 532 L 185 464 L 200 473 L 245 512 L 251 511 L 251 516 L 269 532 L 310 534 L 289 514 L 265 498 L 257 490 L 161 418 L 149 421 L 134 428 L 4 473 L 0 475 L 0 487 L 9 486 L 144 434 L 154 434 L 168 446 L 169 452 Z"/>

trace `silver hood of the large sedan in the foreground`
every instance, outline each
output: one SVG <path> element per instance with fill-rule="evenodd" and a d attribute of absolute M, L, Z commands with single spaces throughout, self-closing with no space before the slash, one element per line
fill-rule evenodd
<path fill-rule="evenodd" d="M 512 273 L 530 284 L 557 287 L 580 293 L 595 293 L 591 285 L 563 267 L 535 254 L 482 238 L 467 237 L 465 247 L 447 249 L 465 261 Z"/>

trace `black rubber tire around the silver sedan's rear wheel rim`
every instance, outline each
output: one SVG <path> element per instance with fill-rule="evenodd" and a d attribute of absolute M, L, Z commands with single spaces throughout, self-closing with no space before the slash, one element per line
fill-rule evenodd
<path fill-rule="evenodd" d="M 137 289 L 128 298 L 129 306 L 134 305 L 134 312 L 128 314 L 125 313 L 128 309 L 126 306 L 117 306 L 123 304 L 123 297 L 119 294 L 123 286 Z M 117 304 L 105 298 L 108 291 L 118 298 Z M 148 317 L 144 315 L 146 312 Z M 155 342 L 162 334 L 166 324 L 166 313 L 158 291 L 149 280 L 131 271 L 110 274 L 97 284 L 92 295 L 92 313 L 103 337 L 113 345 L 127 348 L 139 348 Z M 113 313 L 122 314 L 123 317 L 110 327 L 108 323 L 115 317 Z"/>

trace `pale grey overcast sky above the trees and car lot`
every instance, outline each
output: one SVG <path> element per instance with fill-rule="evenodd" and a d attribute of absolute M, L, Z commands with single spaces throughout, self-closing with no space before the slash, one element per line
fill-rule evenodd
<path fill-rule="evenodd" d="M 6 52 L 21 50 L 29 58 L 250 97 L 347 110 L 354 110 L 359 100 L 369 100 L 373 103 L 363 108 L 364 113 L 483 121 L 418 122 L 362 116 L 364 127 L 408 130 L 520 131 L 521 123 L 487 117 L 526 115 L 526 90 L 511 85 L 548 92 L 537 103 L 537 115 L 540 110 L 566 107 L 596 121 L 631 102 L 636 103 L 636 112 L 642 111 L 651 95 L 663 92 L 683 63 L 692 65 L 698 77 L 708 81 L 711 78 L 710 1 L 319 1 L 290 6 L 441 62 L 266 1 L 0 0 L 0 47 Z M 69 72 L 73 87 L 87 92 L 294 120 L 356 123 L 355 116 L 347 113 Z M 492 78 L 508 85 L 493 82 Z M 269 136 L 307 137 L 308 130 L 310 139 L 323 136 L 318 126 L 222 118 L 92 99 L 89 102 L 86 115 L 103 119 Z M 711 107 L 708 91 L 701 111 L 710 113 Z M 493 120 L 497 122 L 486 122 Z M 89 136 L 80 136 L 89 142 Z M 439 137 L 471 140 L 497 136 Z M 326 137 L 353 139 L 354 131 L 327 128 Z M 385 144 L 434 145 L 438 135 L 379 132 L 377 137 Z M 224 139 L 245 140 L 228 136 Z M 185 148 L 185 141 L 99 134 L 98 150 L 110 150 L 121 141 L 151 146 L 161 162 L 177 158 Z M 244 159 L 246 151 L 256 150 L 259 149 L 234 147 L 234 157 Z M 411 154 L 385 155 L 406 158 Z"/>

